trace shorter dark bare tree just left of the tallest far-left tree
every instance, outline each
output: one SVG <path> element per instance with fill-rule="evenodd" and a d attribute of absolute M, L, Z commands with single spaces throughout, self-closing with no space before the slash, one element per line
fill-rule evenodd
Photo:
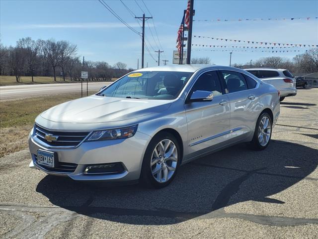
<path fill-rule="evenodd" d="M 25 52 L 21 47 L 10 47 L 8 63 L 13 71 L 16 82 L 20 82 L 20 77 L 25 65 Z"/>

